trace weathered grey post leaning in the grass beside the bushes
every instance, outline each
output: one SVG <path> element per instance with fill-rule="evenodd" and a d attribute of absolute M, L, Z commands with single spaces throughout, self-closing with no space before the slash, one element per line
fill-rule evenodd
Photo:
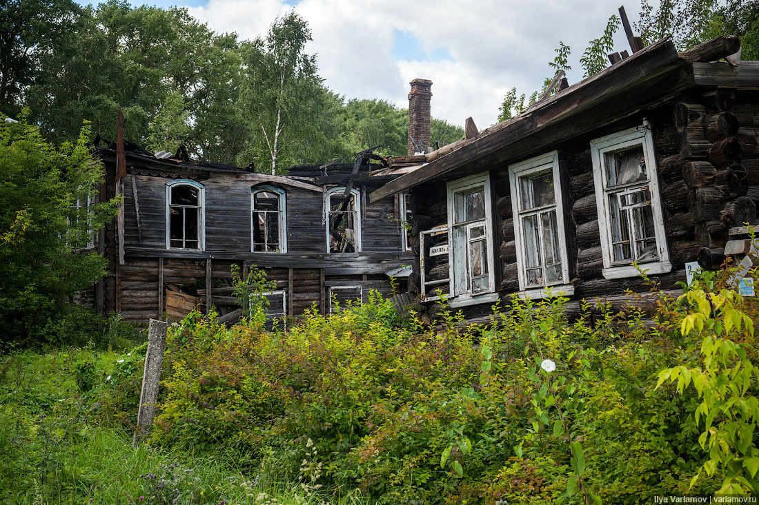
<path fill-rule="evenodd" d="M 140 409 L 137 412 L 137 431 L 134 432 L 132 445 L 140 445 L 140 439 L 150 431 L 153 425 L 153 416 L 156 414 L 156 402 L 158 401 L 158 384 L 161 381 L 161 367 L 163 365 L 163 347 L 166 343 L 165 321 L 150 319 L 147 330 L 147 353 L 145 354 L 145 370 L 143 372 L 143 385 L 140 391 Z"/>

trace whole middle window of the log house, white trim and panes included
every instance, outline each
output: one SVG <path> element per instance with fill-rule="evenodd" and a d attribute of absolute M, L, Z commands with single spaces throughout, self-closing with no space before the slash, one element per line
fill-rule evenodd
<path fill-rule="evenodd" d="M 574 293 L 569 285 L 559 152 L 509 165 L 509 182 L 520 294 L 540 298 Z"/>

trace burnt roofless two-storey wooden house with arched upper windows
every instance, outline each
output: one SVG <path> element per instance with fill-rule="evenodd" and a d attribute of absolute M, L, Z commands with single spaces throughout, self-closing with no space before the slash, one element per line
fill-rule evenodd
<path fill-rule="evenodd" d="M 267 295 L 272 318 L 314 305 L 330 312 L 332 300 L 367 300 L 370 290 L 392 293 L 390 276 L 405 283 L 405 202 L 368 202 L 368 192 L 395 177 L 368 177 L 386 167 L 371 150 L 350 164 L 272 176 L 146 152 L 118 132 L 115 143 L 96 148 L 106 167 L 100 197 L 123 195 L 118 218 L 92 244 L 109 271 L 80 296 L 99 312 L 146 322 L 216 306 L 222 321 L 235 320 L 233 263 L 243 276 L 256 267 L 276 281 Z"/>

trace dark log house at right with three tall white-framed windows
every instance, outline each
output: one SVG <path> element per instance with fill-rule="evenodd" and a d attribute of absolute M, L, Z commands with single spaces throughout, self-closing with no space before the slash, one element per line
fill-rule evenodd
<path fill-rule="evenodd" d="M 759 62 L 735 58 L 735 37 L 681 53 L 630 40 L 633 54 L 572 86 L 558 75 L 515 118 L 470 118 L 464 140 L 431 150 L 427 132 L 389 159 L 399 177 L 370 202 L 408 200 L 424 302 L 445 295 L 469 319 L 515 293 L 621 308 L 649 289 L 637 267 L 678 293 L 686 264 L 723 262 L 731 228 L 757 216 Z"/>

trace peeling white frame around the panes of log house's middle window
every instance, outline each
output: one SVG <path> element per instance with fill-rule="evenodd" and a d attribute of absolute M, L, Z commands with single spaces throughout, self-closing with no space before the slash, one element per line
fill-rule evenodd
<path fill-rule="evenodd" d="M 523 211 L 521 201 L 521 190 L 519 179 L 531 174 L 537 174 L 550 170 L 553 175 L 553 205 L 545 205 L 538 210 Z M 566 226 L 565 226 L 565 202 L 562 188 L 562 177 L 559 171 L 559 151 L 546 152 L 546 154 L 535 156 L 524 160 L 524 162 L 509 165 L 509 184 L 512 193 L 512 212 L 514 216 L 514 238 L 517 250 L 517 272 L 519 280 L 519 293 L 522 298 L 537 299 L 547 296 L 572 295 L 575 294 L 575 286 L 569 284 L 569 254 L 567 247 Z M 562 277 L 559 281 L 552 284 L 543 284 L 539 287 L 530 287 L 527 281 L 527 262 L 524 255 L 524 231 L 522 230 L 522 216 L 540 215 L 542 212 L 550 210 L 556 212 L 556 227 L 558 228 L 559 249 L 562 262 Z M 543 234 L 540 234 L 540 240 L 543 240 Z M 545 268 L 545 260 L 542 258 L 545 249 L 540 246 L 541 262 Z"/>

